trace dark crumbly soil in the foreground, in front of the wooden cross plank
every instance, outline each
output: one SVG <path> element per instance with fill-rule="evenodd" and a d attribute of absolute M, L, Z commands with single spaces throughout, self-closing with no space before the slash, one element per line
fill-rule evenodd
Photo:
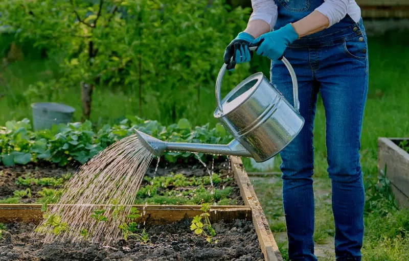
<path fill-rule="evenodd" d="M 0 241 L 0 261 L 8 260 L 263 260 L 251 221 L 214 223 L 217 243 L 190 231 L 190 220 L 146 228 L 150 242 L 120 241 L 111 246 L 90 242 L 53 242 L 33 238 L 34 224 L 11 224 Z"/>

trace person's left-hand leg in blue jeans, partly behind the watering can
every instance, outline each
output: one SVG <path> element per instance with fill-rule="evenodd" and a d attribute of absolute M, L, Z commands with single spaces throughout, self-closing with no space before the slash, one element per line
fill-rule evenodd
<path fill-rule="evenodd" d="M 297 75 L 300 114 L 305 124 L 300 134 L 280 153 L 283 173 L 283 205 L 290 260 L 314 260 L 314 195 L 312 190 L 312 129 L 318 88 L 313 83 L 309 50 L 287 49 L 285 57 Z M 271 63 L 271 82 L 293 105 L 291 77 L 281 61 Z"/>

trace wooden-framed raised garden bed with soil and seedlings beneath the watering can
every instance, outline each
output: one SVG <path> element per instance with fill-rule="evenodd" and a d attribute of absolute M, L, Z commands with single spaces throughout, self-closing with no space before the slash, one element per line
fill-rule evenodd
<path fill-rule="evenodd" d="M 214 172 L 212 176 L 214 186 L 209 184 L 209 170 L 200 164 L 194 164 L 192 167 L 190 163 L 183 165 L 160 162 L 160 168 L 156 173 L 155 164 L 156 162 L 147 171 L 139 195 L 135 199 L 135 204 L 139 205 L 134 205 L 139 210 L 144 209 L 144 212 L 146 212 L 138 222 L 139 224 L 143 222 L 146 225 L 149 240 L 151 243 L 156 242 L 155 244 L 140 246 L 137 242 L 128 241 L 120 242 L 116 246 L 110 246 L 113 248 L 103 248 L 103 246 L 84 243 L 85 245 L 78 246 L 77 251 L 77 247 L 65 248 L 64 245 L 58 245 L 59 243 L 54 243 L 53 246 L 53 244 L 43 245 L 43 243 L 37 242 L 36 239 L 30 241 L 28 233 L 17 229 L 14 241 L 8 245 L 3 244 L 1 247 L 7 250 L 16 242 L 17 249 L 21 249 L 21 251 L 17 251 L 15 254 L 13 251 L 2 250 L 0 253 L 4 254 L 5 257 L 0 258 L 14 257 L 14 255 L 18 257 L 18 253 L 24 251 L 34 251 L 35 254 L 40 255 L 47 253 L 50 249 L 61 250 L 63 248 L 70 249 L 66 254 L 72 254 L 72 259 L 77 258 L 80 260 L 85 258 L 84 256 L 87 253 L 89 256 L 86 258 L 97 258 L 96 260 L 99 260 L 98 258 L 102 260 L 106 257 L 113 259 L 114 256 L 130 259 L 134 257 L 135 260 L 139 260 L 138 255 L 149 257 L 152 260 L 161 260 L 161 257 L 170 260 L 170 256 L 172 256 L 173 260 L 259 260 L 263 256 L 264 260 L 282 260 L 274 236 L 240 158 L 232 157 L 231 162 L 214 162 L 213 169 L 211 166 L 209 167 L 210 172 Z M 27 169 L 30 170 L 30 167 L 26 168 L 25 171 Z M 3 167 L 2 170 L 8 177 L 4 180 L 9 183 L 15 182 L 19 177 L 25 177 L 26 175 L 25 171 L 22 170 L 11 171 L 16 170 L 16 168 L 7 169 Z M 31 171 L 35 183 L 35 186 L 32 186 L 33 197 L 33 193 L 37 192 L 38 194 L 41 191 L 40 189 L 44 189 L 42 182 L 39 181 L 43 178 L 41 175 L 54 176 L 56 180 L 61 180 L 64 179 L 65 176 L 63 175 L 69 170 L 46 172 L 37 169 Z M 7 196 L 7 199 L 15 197 L 12 190 L 19 189 L 21 191 L 20 185 L 18 184 L 17 187 L 9 185 L 8 195 L 0 196 L 3 198 Z M 58 186 L 59 184 L 49 189 L 59 189 Z M 226 191 L 226 188 L 229 188 L 228 191 Z M 214 193 L 211 193 L 212 191 Z M 19 202 L 24 202 L 23 198 L 21 197 Z M 34 202 L 41 203 L 41 200 L 46 199 L 39 197 L 35 198 Z M 163 202 L 161 200 L 167 201 Z M 143 202 L 148 203 L 148 205 L 141 204 Z M 216 205 L 214 205 L 214 202 L 216 202 Z M 197 236 L 190 230 L 191 220 L 202 213 L 200 205 L 203 203 L 211 203 L 210 221 L 215 226 L 215 239 L 217 240 L 217 236 L 219 236 L 218 243 L 208 244 L 202 236 Z M 41 220 L 41 204 L 0 205 L 0 222 L 8 224 L 11 228 L 18 227 L 21 222 L 38 224 Z M 251 229 L 247 228 L 249 224 L 253 224 L 250 226 Z M 33 228 L 33 225 L 31 226 Z M 217 232 L 218 229 L 219 233 Z M 241 232 L 236 233 L 236 231 Z M 11 238 L 13 240 L 13 236 Z M 156 238 L 161 240 L 155 240 Z M 258 241 L 255 240 L 256 238 Z M 201 243 L 197 243 L 199 241 Z M 123 245 L 121 246 L 121 244 Z M 179 246 L 180 250 L 177 250 L 180 244 L 185 249 Z M 189 244 L 193 244 L 193 247 Z M 189 248 L 186 249 L 186 247 Z M 137 250 L 137 248 L 139 249 Z M 103 254 L 100 254 L 101 251 Z M 258 256 L 260 251 L 262 256 Z M 12 254 L 9 254 L 9 252 L 12 252 Z M 97 254 L 96 257 L 95 254 Z M 53 255 L 49 257 L 51 256 Z M 47 255 L 42 256 L 42 258 L 47 260 Z"/>

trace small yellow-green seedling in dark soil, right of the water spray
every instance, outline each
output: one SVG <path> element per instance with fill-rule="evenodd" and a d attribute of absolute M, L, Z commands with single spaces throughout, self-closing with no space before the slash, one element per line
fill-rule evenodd
<path fill-rule="evenodd" d="M 203 213 L 200 214 L 200 216 L 196 216 L 193 218 L 192 223 L 190 225 L 190 230 L 194 231 L 195 234 L 200 235 L 203 234 L 205 235 L 206 241 L 209 243 L 217 243 L 217 240 L 214 241 L 213 238 L 216 235 L 216 232 L 214 231 L 212 224 L 210 223 L 209 217 L 210 217 L 210 208 L 211 206 L 209 204 L 203 204 L 200 210 L 203 211 Z M 202 219 L 205 220 L 205 223 L 202 223 Z"/>

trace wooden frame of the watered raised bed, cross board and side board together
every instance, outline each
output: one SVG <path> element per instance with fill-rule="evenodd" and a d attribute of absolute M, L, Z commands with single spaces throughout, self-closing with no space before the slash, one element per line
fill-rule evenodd
<path fill-rule="evenodd" d="M 272 235 L 264 211 L 257 199 L 253 186 L 239 157 L 231 158 L 231 167 L 244 206 L 212 206 L 210 219 L 212 222 L 223 220 L 232 222 L 234 219 L 246 219 L 253 222 L 266 261 L 282 261 L 283 258 L 277 243 Z M 134 205 L 142 210 L 143 205 Z M 193 205 L 147 205 L 142 221 L 146 223 L 170 223 L 185 217 L 193 218 L 200 215 L 200 206 Z M 39 204 L 0 204 L 0 223 L 34 222 L 42 219 L 41 205 Z"/>

